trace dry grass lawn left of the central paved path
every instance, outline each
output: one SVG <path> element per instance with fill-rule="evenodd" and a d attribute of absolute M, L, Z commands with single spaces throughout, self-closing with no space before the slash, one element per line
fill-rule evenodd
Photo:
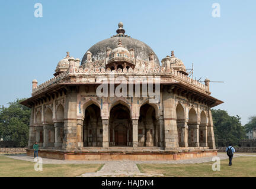
<path fill-rule="evenodd" d="M 0 155 L 0 177 L 76 177 L 95 172 L 101 164 L 43 164 L 43 171 L 34 170 L 34 162 L 17 160 Z"/>

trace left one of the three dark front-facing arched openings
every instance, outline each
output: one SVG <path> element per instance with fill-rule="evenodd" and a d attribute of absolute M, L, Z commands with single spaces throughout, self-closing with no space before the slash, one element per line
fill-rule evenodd
<path fill-rule="evenodd" d="M 84 146 L 102 146 L 103 125 L 100 115 L 100 107 L 91 104 L 85 109 L 82 131 L 82 141 L 84 141 Z"/>

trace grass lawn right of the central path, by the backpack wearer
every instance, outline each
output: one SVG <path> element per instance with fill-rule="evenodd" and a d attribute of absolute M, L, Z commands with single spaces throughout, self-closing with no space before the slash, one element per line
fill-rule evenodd
<path fill-rule="evenodd" d="M 220 160 L 220 171 L 213 171 L 214 162 L 202 164 L 137 164 L 141 172 L 162 173 L 165 177 L 256 177 L 256 157 Z"/>

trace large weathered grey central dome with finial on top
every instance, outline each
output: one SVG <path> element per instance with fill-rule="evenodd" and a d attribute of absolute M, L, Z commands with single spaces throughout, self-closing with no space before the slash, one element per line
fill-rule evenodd
<path fill-rule="evenodd" d="M 121 26 L 121 27 L 120 27 Z M 142 41 L 131 38 L 127 35 L 124 35 L 123 25 L 121 22 L 119 23 L 119 30 L 117 30 L 117 35 L 114 35 L 111 38 L 100 41 L 94 44 L 88 51 L 92 53 L 92 60 L 103 60 L 105 58 L 105 50 L 106 48 L 111 48 L 112 50 L 116 48 L 119 40 L 123 44 L 123 47 L 126 49 L 133 48 L 135 50 L 135 58 L 138 60 L 146 60 L 149 61 L 149 53 L 153 52 L 152 48 Z M 153 54 L 155 54 L 153 52 Z M 159 65 L 158 57 L 154 56 L 155 63 Z M 85 64 L 87 61 L 87 53 L 85 53 L 82 58 L 81 64 Z"/>

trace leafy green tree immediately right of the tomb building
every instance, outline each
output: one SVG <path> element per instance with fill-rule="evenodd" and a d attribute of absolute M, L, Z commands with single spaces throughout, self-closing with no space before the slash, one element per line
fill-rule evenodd
<path fill-rule="evenodd" d="M 212 118 L 216 145 L 226 146 L 230 142 L 238 145 L 239 141 L 245 139 L 245 128 L 239 116 L 230 116 L 225 110 L 212 109 Z"/>

